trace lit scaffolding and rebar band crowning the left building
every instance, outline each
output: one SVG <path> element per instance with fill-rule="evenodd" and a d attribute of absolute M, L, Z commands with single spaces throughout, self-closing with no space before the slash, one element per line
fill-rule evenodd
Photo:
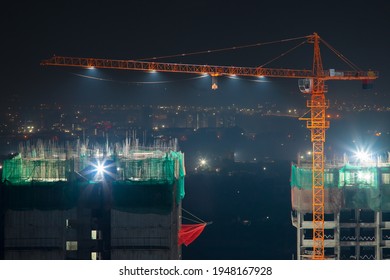
<path fill-rule="evenodd" d="M 85 177 L 97 168 L 97 162 L 105 164 L 110 172 L 107 179 L 138 183 L 172 184 L 179 180 L 181 198 L 184 196 L 184 154 L 176 152 L 174 145 L 140 147 L 126 140 L 122 145 L 71 146 L 67 143 L 38 141 L 23 143 L 19 153 L 3 164 L 2 181 L 23 185 L 31 182 L 74 181 L 75 176 Z M 96 173 L 96 172 L 95 172 Z M 110 178 L 109 178 L 110 177 Z M 100 178 L 101 179 L 101 178 Z"/>

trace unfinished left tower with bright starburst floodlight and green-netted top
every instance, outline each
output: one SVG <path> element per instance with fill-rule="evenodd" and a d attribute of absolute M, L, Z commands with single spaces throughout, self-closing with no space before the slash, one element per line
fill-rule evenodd
<path fill-rule="evenodd" d="M 179 259 L 175 145 L 23 144 L 3 162 L 1 259 Z"/>

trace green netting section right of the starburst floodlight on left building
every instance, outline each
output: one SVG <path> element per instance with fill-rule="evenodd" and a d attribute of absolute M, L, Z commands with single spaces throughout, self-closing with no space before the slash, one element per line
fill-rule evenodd
<path fill-rule="evenodd" d="M 118 159 L 120 180 L 112 182 L 112 206 L 130 212 L 169 213 L 184 198 L 184 155 Z M 174 191 L 176 197 L 174 197 Z"/>

